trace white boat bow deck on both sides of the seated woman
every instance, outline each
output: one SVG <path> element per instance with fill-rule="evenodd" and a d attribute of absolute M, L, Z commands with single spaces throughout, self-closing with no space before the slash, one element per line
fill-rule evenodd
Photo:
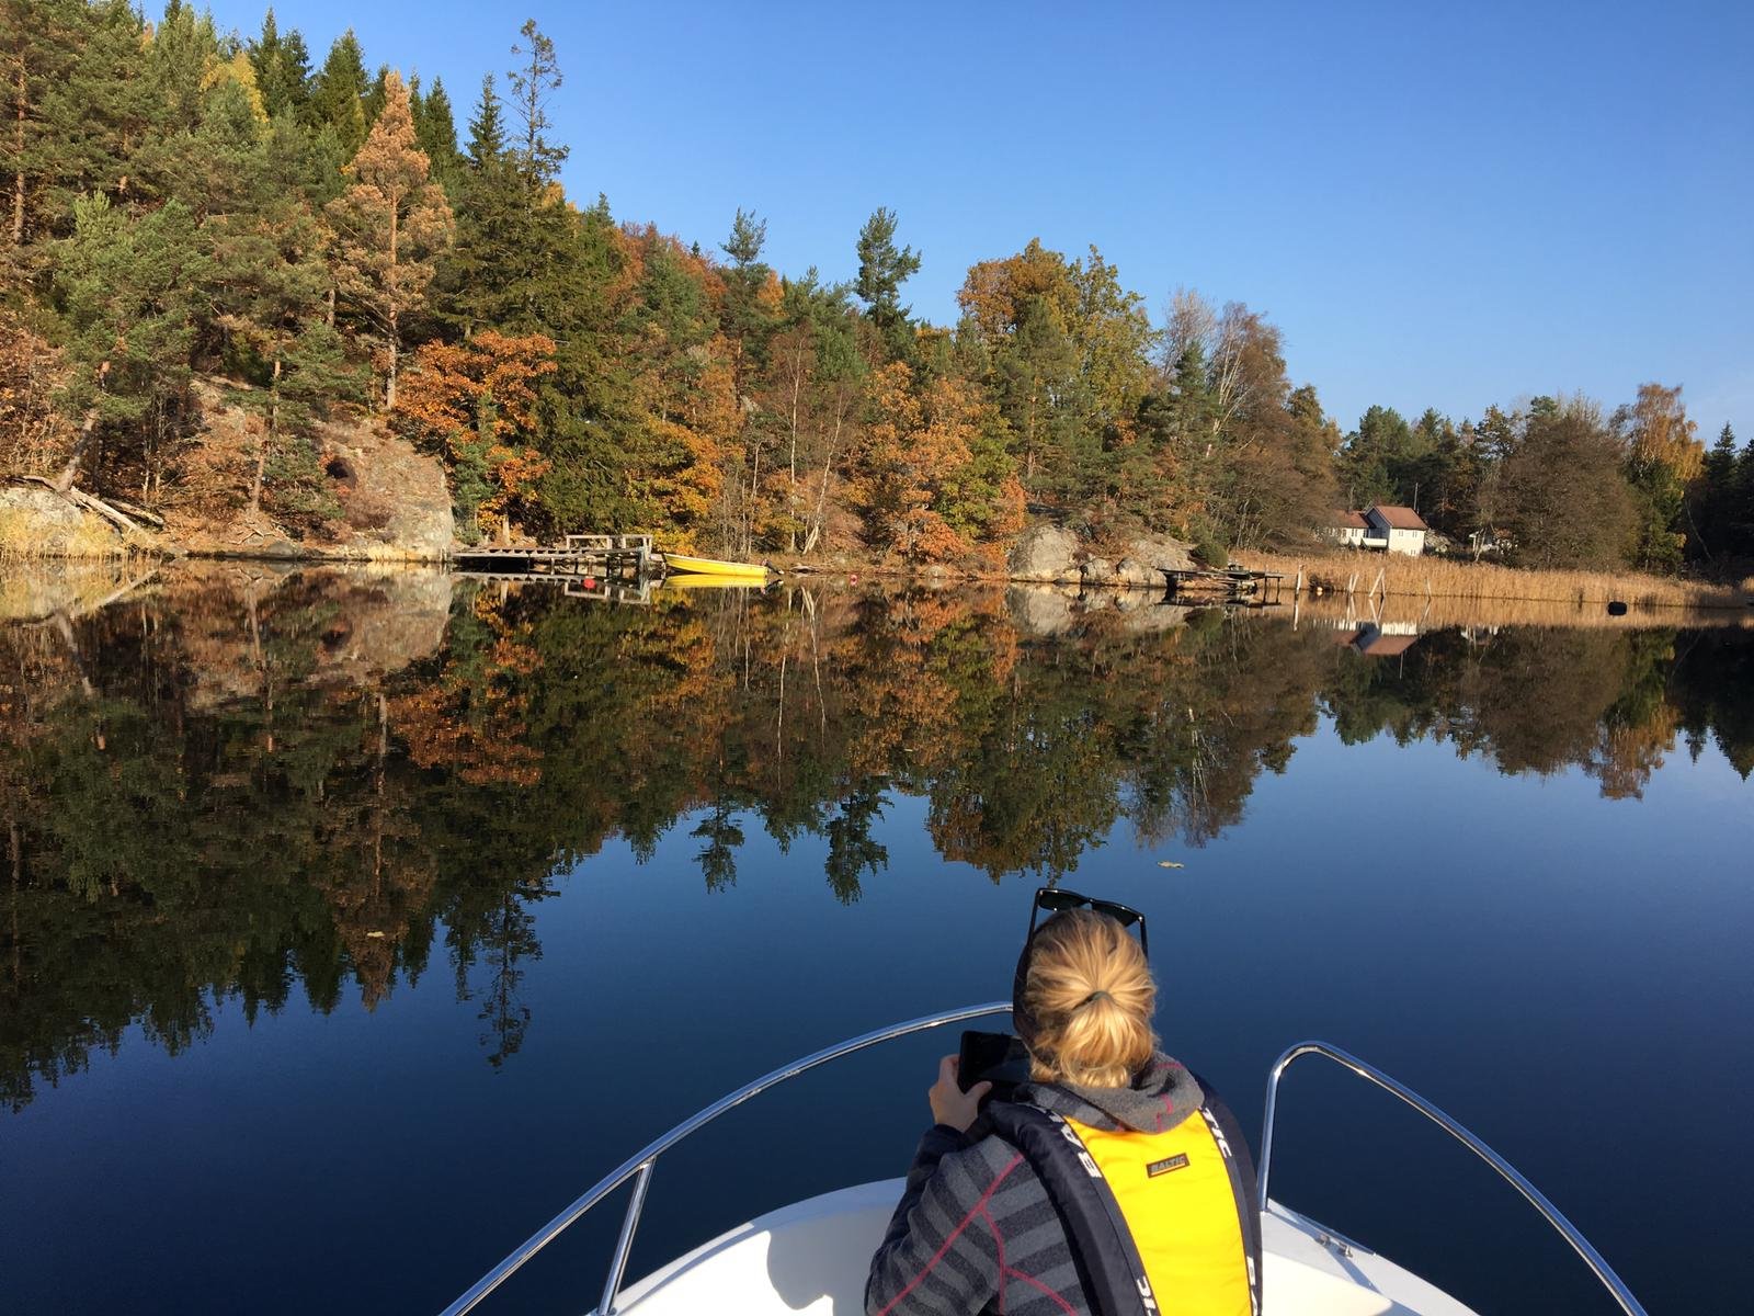
<path fill-rule="evenodd" d="M 902 1179 L 842 1188 L 738 1225 L 621 1291 L 628 1316 L 863 1316 L 865 1272 Z M 1294 1211 L 1261 1216 L 1265 1316 L 1475 1316 Z"/>

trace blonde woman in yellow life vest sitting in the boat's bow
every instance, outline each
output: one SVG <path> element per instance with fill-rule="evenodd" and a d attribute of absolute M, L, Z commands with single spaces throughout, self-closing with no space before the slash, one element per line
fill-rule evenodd
<path fill-rule="evenodd" d="M 1031 933 L 1014 1011 L 1031 1083 L 982 1111 L 991 1084 L 963 1091 L 956 1056 L 938 1063 L 868 1316 L 1259 1312 L 1247 1142 L 1158 1053 L 1154 1004 L 1117 919 L 1066 909 Z"/>

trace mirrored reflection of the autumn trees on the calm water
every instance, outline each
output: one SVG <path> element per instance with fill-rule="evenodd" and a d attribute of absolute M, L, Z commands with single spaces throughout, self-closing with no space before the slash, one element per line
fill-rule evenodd
<path fill-rule="evenodd" d="M 442 939 L 491 1063 L 517 1051 L 535 904 L 612 835 L 682 825 L 709 888 L 751 826 L 826 848 L 844 902 L 889 797 L 995 879 L 1063 874 L 1117 823 L 1203 844 L 1333 716 L 1638 795 L 1677 742 L 1754 769 L 1742 632 L 1422 637 L 1093 612 L 1031 637 L 1002 593 L 795 590 L 652 609 L 300 576 L 0 632 L 0 1093 L 114 1048 L 175 1051 L 221 1000 L 372 1007 Z M 421 586 L 428 588 L 428 586 Z M 442 586 L 440 586 L 442 590 Z"/>

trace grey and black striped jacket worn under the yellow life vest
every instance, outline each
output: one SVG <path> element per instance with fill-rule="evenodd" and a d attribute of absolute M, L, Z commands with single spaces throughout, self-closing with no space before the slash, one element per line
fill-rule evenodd
<path fill-rule="evenodd" d="M 1130 1088 L 1030 1083 L 1017 1102 L 1107 1130 L 1159 1134 L 1201 1105 L 1235 1119 L 1187 1069 L 1154 1056 Z M 1240 1130 L 1230 1137 L 1252 1190 Z M 1252 1197 L 1251 1205 L 1252 1211 Z M 1030 1158 L 991 1132 L 935 1125 L 921 1139 L 907 1190 L 889 1219 L 865 1284 L 866 1316 L 1089 1316 L 1066 1228 Z"/>

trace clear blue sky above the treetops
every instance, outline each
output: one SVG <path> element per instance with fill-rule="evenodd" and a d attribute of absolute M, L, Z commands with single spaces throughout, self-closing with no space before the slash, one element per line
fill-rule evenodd
<path fill-rule="evenodd" d="M 249 35 L 254 0 L 216 0 Z M 460 135 L 533 16 L 570 195 L 854 274 L 877 205 L 947 323 L 972 261 L 1089 242 L 1154 316 L 1265 311 L 1342 426 L 1684 384 L 1754 439 L 1754 4 L 281 0 L 321 63 L 444 77 Z"/>

